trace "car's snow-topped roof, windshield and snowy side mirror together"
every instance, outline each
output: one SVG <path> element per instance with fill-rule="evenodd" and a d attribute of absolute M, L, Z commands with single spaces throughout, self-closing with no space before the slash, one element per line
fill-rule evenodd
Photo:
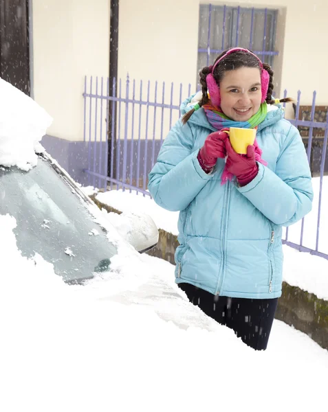
<path fill-rule="evenodd" d="M 52 118 L 41 106 L 1 78 L 0 95 L 0 216 L 15 219 L 23 256 L 41 255 L 66 282 L 80 282 L 109 270 L 117 231 L 139 252 L 155 246 L 158 230 L 149 216 L 106 213 L 108 222 L 47 155 L 40 141 Z"/>

